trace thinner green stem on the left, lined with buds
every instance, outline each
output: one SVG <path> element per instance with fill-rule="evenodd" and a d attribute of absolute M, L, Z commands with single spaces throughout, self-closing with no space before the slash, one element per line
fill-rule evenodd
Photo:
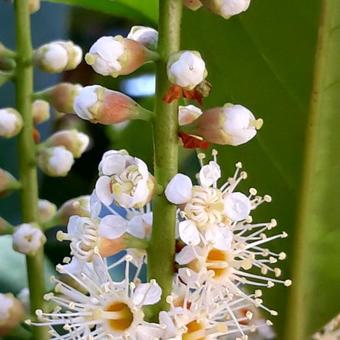
<path fill-rule="evenodd" d="M 20 180 L 22 184 L 21 207 L 23 222 L 38 220 L 38 181 L 33 141 L 32 93 L 33 68 L 30 13 L 27 0 L 15 0 L 16 40 L 17 40 L 17 76 L 16 102 L 21 113 L 24 127 L 18 137 L 20 156 Z M 28 286 L 32 318 L 36 309 L 43 306 L 44 268 L 43 249 L 35 256 L 26 257 Z M 36 340 L 48 339 L 45 327 L 34 327 L 33 337 Z"/>

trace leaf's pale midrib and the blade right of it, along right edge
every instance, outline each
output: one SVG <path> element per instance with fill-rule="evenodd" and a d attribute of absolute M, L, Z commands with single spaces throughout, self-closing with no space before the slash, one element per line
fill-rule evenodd
<path fill-rule="evenodd" d="M 340 1 L 322 0 L 286 337 L 309 339 L 338 311 Z M 333 302 L 333 303 L 332 303 Z"/>

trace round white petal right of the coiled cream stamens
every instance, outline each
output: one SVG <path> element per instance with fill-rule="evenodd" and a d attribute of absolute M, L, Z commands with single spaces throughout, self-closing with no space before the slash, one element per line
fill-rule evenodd
<path fill-rule="evenodd" d="M 232 221 L 241 221 L 249 216 L 251 202 L 241 192 L 232 192 L 224 197 L 224 212 Z"/>

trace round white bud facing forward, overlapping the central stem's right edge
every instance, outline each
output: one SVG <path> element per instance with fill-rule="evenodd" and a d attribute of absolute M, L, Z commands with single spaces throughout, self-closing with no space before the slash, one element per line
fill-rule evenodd
<path fill-rule="evenodd" d="M 167 73 L 169 81 L 184 89 L 192 90 L 208 75 L 199 52 L 180 51 L 170 56 Z"/>

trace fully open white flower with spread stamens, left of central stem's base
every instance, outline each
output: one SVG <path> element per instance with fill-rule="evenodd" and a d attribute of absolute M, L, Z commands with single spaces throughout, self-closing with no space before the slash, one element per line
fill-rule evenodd
<path fill-rule="evenodd" d="M 72 273 L 67 266 L 57 266 L 60 273 L 78 283 L 80 290 L 54 279 L 55 291 L 63 297 L 49 293 L 45 298 L 62 306 L 63 310 L 59 306 L 52 313 L 38 310 L 41 323 L 29 324 L 48 325 L 52 339 L 60 339 L 65 331 L 65 339 L 159 338 L 162 328 L 144 321 L 143 307 L 157 303 L 162 291 L 154 280 L 129 283 L 130 260 L 127 256 L 125 278 L 119 282 L 111 279 L 105 263 L 98 256 L 94 257 L 91 266 L 83 267 L 81 273 Z M 63 326 L 61 334 L 60 325 Z"/>

